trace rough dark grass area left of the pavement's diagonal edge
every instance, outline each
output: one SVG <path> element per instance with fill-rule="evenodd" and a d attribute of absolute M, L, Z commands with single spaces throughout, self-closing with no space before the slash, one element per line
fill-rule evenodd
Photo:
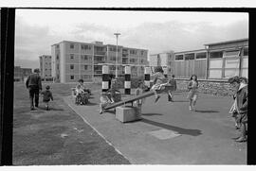
<path fill-rule="evenodd" d="M 14 84 L 13 165 L 130 164 L 64 103 L 62 96 L 70 95 L 75 84 L 50 86 L 51 111 L 42 99 L 38 110 L 29 111 L 25 85 Z M 88 88 L 101 90 L 100 85 Z"/>

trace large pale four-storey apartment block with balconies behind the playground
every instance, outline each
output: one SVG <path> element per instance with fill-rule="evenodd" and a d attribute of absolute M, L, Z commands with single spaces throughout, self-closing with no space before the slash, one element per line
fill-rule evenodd
<path fill-rule="evenodd" d="M 124 65 L 132 65 L 132 77 L 142 77 L 148 64 L 148 50 L 103 44 L 102 42 L 78 43 L 63 41 L 51 45 L 51 75 L 56 82 L 76 82 L 101 79 L 102 64 L 108 64 L 110 73 L 124 75 Z"/>

